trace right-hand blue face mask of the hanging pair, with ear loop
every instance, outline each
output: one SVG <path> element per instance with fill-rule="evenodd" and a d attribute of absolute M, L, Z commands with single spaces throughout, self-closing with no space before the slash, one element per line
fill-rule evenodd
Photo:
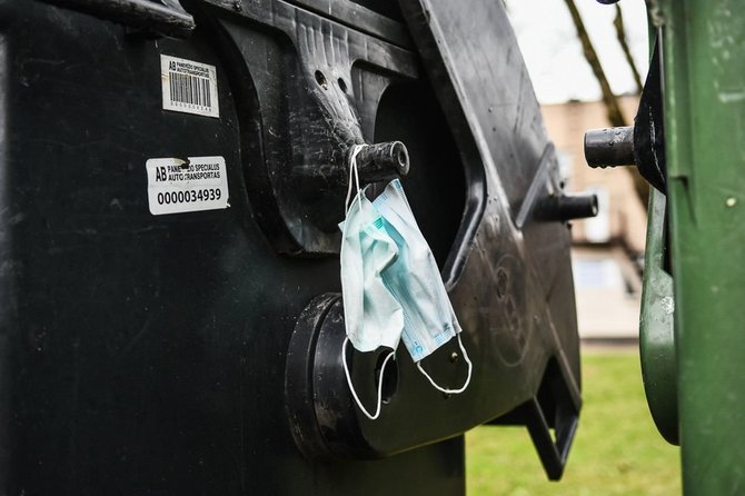
<path fill-rule="evenodd" d="M 397 260 L 383 272 L 383 281 L 404 310 L 404 345 L 433 387 L 448 394 L 463 393 L 470 381 L 473 364 L 460 340 L 461 328 L 437 262 L 414 218 L 400 181 L 393 180 L 372 205 L 398 248 Z M 449 389 L 435 383 L 421 367 L 421 360 L 456 336 L 468 364 L 468 376 L 463 386 Z"/>

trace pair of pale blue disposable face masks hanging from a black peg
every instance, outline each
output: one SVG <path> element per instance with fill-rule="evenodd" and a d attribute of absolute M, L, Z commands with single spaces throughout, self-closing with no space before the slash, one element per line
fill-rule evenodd
<path fill-rule="evenodd" d="M 380 415 L 385 367 L 395 357 L 398 343 L 404 345 L 421 374 L 436 389 L 447 394 L 466 390 L 473 365 L 460 341 L 460 326 L 445 290 L 429 245 L 421 235 L 398 179 L 391 181 L 374 201 L 359 188 L 356 156 L 364 146 L 356 146 L 349 168 L 351 199 L 342 222 L 341 292 L 347 338 L 341 357 L 347 383 L 360 410 L 370 419 Z M 444 388 L 421 367 L 421 360 L 457 337 L 468 364 L 468 377 L 457 389 Z M 347 366 L 347 344 L 358 351 L 390 348 L 380 370 L 376 411 L 365 409 L 355 391 Z"/>

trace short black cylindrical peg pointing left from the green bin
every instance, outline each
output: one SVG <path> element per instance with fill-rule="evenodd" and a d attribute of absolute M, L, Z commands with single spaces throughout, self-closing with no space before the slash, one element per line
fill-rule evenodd
<path fill-rule="evenodd" d="M 589 167 L 633 166 L 634 126 L 585 132 L 585 159 Z"/>

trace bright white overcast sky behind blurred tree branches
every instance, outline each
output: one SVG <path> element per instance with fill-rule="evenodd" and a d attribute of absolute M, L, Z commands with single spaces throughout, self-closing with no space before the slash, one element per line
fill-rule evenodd
<path fill-rule="evenodd" d="M 538 101 L 599 100 L 600 87 L 587 65 L 564 0 L 506 0 Z M 575 0 L 616 95 L 635 91 L 634 79 L 616 39 L 614 6 Z M 624 24 L 642 82 L 648 66 L 644 0 L 623 0 Z"/>

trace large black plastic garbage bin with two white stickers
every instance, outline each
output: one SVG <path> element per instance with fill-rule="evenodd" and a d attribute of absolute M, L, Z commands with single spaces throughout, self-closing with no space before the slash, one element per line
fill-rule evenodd
<path fill-rule="evenodd" d="M 485 423 L 559 477 L 568 216 L 501 3 L 181 3 L 0 1 L 0 493 L 457 495 Z M 399 351 L 376 421 L 340 366 L 360 142 L 406 147 L 475 366 L 447 396 Z M 379 354 L 351 367 L 370 400 Z"/>

